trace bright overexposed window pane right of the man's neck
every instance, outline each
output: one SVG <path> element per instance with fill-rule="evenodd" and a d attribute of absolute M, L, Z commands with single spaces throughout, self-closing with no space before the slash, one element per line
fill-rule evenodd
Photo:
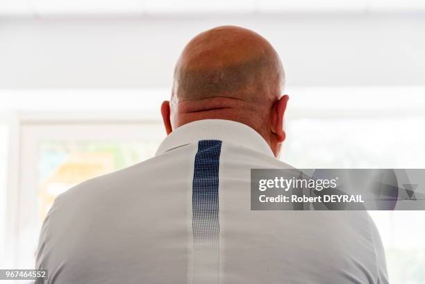
<path fill-rule="evenodd" d="M 299 168 L 423 168 L 425 117 L 311 118 L 288 122 L 281 160 Z M 425 211 L 370 211 L 390 283 L 425 283 Z"/>

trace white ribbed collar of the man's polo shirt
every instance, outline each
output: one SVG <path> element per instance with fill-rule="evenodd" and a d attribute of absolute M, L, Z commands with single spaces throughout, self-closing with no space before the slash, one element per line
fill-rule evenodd
<path fill-rule="evenodd" d="M 204 119 L 176 128 L 160 144 L 156 156 L 199 140 L 222 140 L 274 156 L 264 138 L 253 128 L 224 119 Z"/>

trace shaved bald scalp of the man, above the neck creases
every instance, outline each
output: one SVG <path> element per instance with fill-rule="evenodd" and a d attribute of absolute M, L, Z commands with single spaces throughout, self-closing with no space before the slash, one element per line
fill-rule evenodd
<path fill-rule="evenodd" d="M 200 33 L 183 49 L 174 71 L 177 101 L 228 97 L 264 101 L 283 87 L 278 54 L 246 28 L 220 26 Z"/>

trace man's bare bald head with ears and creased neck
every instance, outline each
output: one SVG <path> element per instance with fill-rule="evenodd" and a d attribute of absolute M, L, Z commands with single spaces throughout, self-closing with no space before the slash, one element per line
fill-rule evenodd
<path fill-rule="evenodd" d="M 281 60 L 261 35 L 237 26 L 200 33 L 176 63 L 172 97 L 161 106 L 165 130 L 201 119 L 233 120 L 260 133 L 278 156 L 289 99 L 284 82 Z"/>

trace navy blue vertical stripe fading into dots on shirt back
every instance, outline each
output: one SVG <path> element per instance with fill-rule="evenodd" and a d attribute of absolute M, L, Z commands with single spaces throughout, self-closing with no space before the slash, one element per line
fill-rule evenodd
<path fill-rule="evenodd" d="M 219 242 L 220 140 L 200 140 L 194 160 L 192 231 L 195 249 L 217 249 Z"/>

